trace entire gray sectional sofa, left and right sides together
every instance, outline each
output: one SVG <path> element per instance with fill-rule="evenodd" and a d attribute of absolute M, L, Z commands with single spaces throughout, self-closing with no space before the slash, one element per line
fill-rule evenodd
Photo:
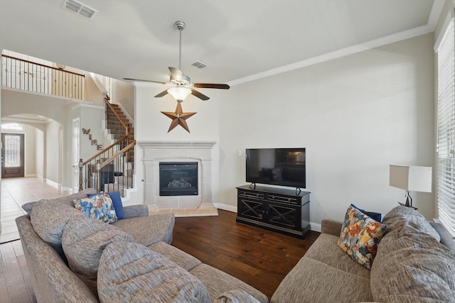
<path fill-rule="evenodd" d="M 38 302 L 268 302 L 171 246 L 172 214 L 126 206 L 125 219 L 105 224 L 71 206 L 89 192 L 30 204 L 16 219 Z M 382 224 L 387 233 L 368 270 L 337 246 L 342 223 L 323 220 L 271 302 L 455 302 L 455 242 L 445 228 L 405 206 Z"/>

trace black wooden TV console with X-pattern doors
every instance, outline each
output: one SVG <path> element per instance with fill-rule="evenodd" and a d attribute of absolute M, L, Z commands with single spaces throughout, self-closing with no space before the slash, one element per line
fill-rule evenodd
<path fill-rule="evenodd" d="M 310 230 L 310 193 L 273 187 L 237 188 L 235 221 L 302 238 Z"/>

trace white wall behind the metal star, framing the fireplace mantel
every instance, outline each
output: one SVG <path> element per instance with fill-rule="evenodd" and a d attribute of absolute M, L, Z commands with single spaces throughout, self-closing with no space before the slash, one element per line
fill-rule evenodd
<path fill-rule="evenodd" d="M 144 202 L 144 150 L 141 148 L 141 141 L 215 141 L 212 152 L 212 197 L 217 199 L 219 188 L 219 144 L 220 141 L 220 95 L 223 92 L 217 89 L 200 89 L 200 92 L 210 97 L 208 101 L 202 101 L 192 95 L 188 96 L 182 103 L 183 112 L 197 112 L 196 115 L 187 119 L 191 133 L 185 131 L 181 126 L 177 126 L 168 133 L 171 119 L 161 111 L 176 111 L 177 102 L 166 95 L 162 98 L 154 98 L 156 94 L 162 92 L 166 87 L 151 87 L 149 85 L 137 84 L 135 89 L 135 120 L 134 131 L 138 144 L 135 152 L 136 180 L 138 185 L 137 195 L 131 203 Z M 214 201 L 215 203 L 217 201 Z"/>

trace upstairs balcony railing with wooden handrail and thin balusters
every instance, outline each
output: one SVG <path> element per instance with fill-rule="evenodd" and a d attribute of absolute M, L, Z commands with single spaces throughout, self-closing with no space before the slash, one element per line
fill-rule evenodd
<path fill-rule="evenodd" d="M 1 55 L 1 86 L 59 97 L 83 99 L 84 75 Z"/>

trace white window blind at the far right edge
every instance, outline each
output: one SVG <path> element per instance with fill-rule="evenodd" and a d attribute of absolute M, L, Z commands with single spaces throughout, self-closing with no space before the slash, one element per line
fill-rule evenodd
<path fill-rule="evenodd" d="M 455 24 L 451 18 L 437 48 L 438 218 L 455 236 Z"/>

